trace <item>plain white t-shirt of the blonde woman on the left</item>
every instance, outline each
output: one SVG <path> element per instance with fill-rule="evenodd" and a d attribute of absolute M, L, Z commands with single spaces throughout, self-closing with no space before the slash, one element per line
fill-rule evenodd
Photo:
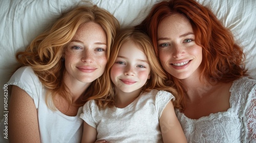
<path fill-rule="evenodd" d="M 41 142 L 81 141 L 83 121 L 79 115 L 82 113 L 82 107 L 79 108 L 76 116 L 67 116 L 58 110 L 49 109 L 45 102 L 46 89 L 31 67 L 19 68 L 7 84 L 16 85 L 25 90 L 34 100 Z"/>

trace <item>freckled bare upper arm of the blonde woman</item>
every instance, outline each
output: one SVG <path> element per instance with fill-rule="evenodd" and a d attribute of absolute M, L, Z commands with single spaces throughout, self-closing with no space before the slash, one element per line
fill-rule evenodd
<path fill-rule="evenodd" d="M 10 142 L 40 142 L 34 101 L 26 91 L 14 85 L 10 98 L 8 122 Z"/>

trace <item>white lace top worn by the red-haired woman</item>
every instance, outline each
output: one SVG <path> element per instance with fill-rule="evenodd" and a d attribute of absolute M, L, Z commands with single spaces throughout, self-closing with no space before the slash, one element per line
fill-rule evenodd
<path fill-rule="evenodd" d="M 229 91 L 227 111 L 194 120 L 176 109 L 188 142 L 256 142 L 256 81 L 241 78 Z"/>

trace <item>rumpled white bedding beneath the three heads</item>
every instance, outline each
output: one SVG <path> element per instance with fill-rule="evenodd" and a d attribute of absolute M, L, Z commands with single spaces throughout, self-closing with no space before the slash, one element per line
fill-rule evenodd
<path fill-rule="evenodd" d="M 0 86 L 10 79 L 17 61 L 15 53 L 24 51 L 39 33 L 57 17 L 80 4 L 82 0 L 5 0 L 0 1 Z M 151 7 L 163 0 L 91 0 L 93 4 L 111 12 L 121 27 L 140 23 Z M 256 79 L 256 1 L 197 0 L 210 8 L 223 25 L 231 30 L 246 54 L 248 76 Z M 4 90 L 0 90 L 4 95 Z M 4 96 L 0 98 L 1 118 Z"/>

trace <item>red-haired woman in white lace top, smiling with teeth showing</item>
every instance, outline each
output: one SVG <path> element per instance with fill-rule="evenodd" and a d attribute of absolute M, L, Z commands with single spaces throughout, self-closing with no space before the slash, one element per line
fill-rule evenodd
<path fill-rule="evenodd" d="M 176 114 L 188 142 L 256 141 L 256 81 L 242 48 L 206 7 L 164 1 L 137 26 L 153 41 L 180 93 Z"/>

